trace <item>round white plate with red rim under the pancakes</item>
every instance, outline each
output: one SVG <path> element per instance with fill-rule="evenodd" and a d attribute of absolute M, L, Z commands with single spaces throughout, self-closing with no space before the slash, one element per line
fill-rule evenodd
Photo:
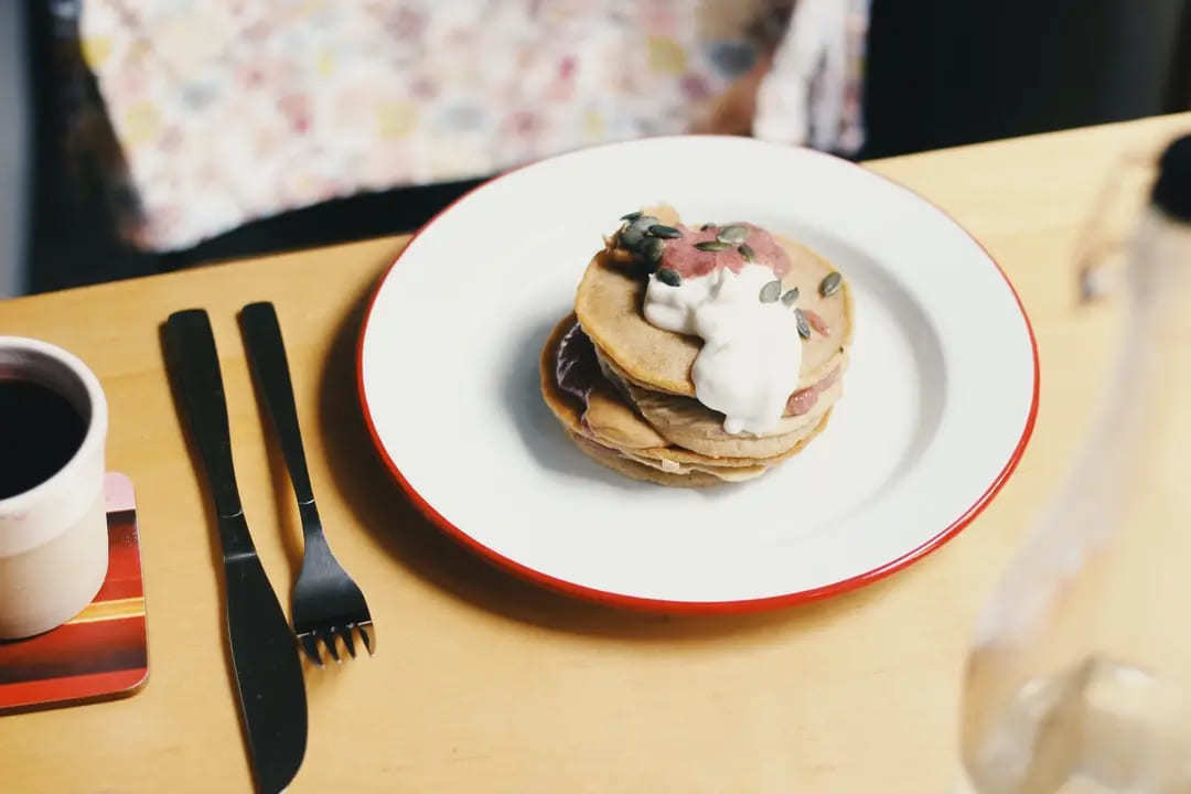
<path fill-rule="evenodd" d="M 600 235 L 657 201 L 804 240 L 852 283 L 846 394 L 759 480 L 628 480 L 538 393 L 538 352 Z M 443 530 L 538 582 L 666 611 L 779 606 L 909 564 L 992 498 L 1037 407 L 1029 321 L 962 229 L 846 161 L 724 137 L 587 149 L 469 193 L 382 279 L 358 379 L 382 458 Z"/>

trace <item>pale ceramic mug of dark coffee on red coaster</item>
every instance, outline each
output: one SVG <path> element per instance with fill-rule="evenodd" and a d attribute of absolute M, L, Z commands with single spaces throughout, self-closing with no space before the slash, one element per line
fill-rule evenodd
<path fill-rule="evenodd" d="M 66 350 L 0 336 L 0 638 L 91 604 L 107 575 L 99 379 Z"/>

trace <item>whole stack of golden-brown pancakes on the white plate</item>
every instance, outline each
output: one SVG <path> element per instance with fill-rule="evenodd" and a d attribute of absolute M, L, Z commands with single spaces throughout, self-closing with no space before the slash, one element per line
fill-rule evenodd
<path fill-rule="evenodd" d="M 678 223 L 668 207 L 649 214 Z M 774 236 L 791 262 L 781 289 L 798 288 L 810 326 L 798 388 L 771 433 L 728 433 L 724 414 L 696 398 L 691 367 L 703 342 L 646 320 L 641 256 L 619 237 L 587 265 L 574 313 L 542 350 L 542 394 L 580 450 L 637 480 L 703 487 L 756 477 L 823 430 L 842 392 L 853 324 L 847 282 L 828 280 L 834 268 L 825 260 Z"/>

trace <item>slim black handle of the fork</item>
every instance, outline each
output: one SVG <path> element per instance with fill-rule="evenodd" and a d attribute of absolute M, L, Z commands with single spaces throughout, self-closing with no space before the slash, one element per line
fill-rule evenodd
<path fill-rule="evenodd" d="M 314 492 L 310 487 L 306 469 L 306 451 L 301 444 L 301 427 L 298 425 L 298 408 L 294 405 L 294 387 L 286 361 L 286 345 L 281 339 L 281 325 L 273 304 L 261 301 L 249 304 L 239 313 L 248 344 L 248 358 L 256 375 L 256 386 L 264 395 L 264 407 L 278 432 L 281 454 L 289 469 L 289 480 L 306 524 L 307 509 L 313 509 Z M 310 506 L 307 508 L 307 505 Z"/>

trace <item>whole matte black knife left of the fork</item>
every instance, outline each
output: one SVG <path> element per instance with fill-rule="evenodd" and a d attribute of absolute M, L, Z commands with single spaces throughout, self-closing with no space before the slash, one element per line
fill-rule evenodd
<path fill-rule="evenodd" d="M 207 471 L 223 542 L 227 634 L 239 709 L 261 792 L 283 789 L 306 755 L 306 689 L 298 645 L 256 556 L 236 488 L 227 404 L 207 313 L 175 312 L 166 323 L 168 365 Z"/>

